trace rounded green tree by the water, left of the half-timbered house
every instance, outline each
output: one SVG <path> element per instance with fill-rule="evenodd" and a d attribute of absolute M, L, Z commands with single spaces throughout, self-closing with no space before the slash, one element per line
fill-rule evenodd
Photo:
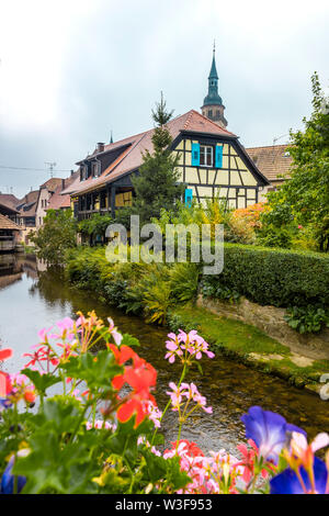
<path fill-rule="evenodd" d="M 38 258 L 60 266 L 67 249 L 77 245 L 77 224 L 70 210 L 49 210 L 44 224 L 30 238 Z"/>

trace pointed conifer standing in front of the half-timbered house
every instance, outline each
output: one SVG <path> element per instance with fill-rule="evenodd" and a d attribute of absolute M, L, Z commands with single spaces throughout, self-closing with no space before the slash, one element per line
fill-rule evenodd
<path fill-rule="evenodd" d="M 131 213 L 138 214 L 140 222 L 158 217 L 161 209 L 174 210 L 177 201 L 183 194 L 184 187 L 178 183 L 179 156 L 172 155 L 172 137 L 166 126 L 172 113 L 173 111 L 167 111 L 161 92 L 160 102 L 157 102 L 156 110 L 152 110 L 152 120 L 156 123 L 151 138 L 154 154 L 145 152 L 139 175 L 132 179 L 136 197 Z"/>

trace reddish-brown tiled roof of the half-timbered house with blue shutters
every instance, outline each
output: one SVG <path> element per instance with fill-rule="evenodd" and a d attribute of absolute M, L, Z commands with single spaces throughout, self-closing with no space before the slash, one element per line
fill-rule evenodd
<path fill-rule="evenodd" d="M 219 125 L 212 122 L 209 119 L 203 116 L 195 110 L 188 111 L 188 113 L 177 116 L 168 122 L 167 127 L 174 139 L 182 131 L 191 131 L 195 133 L 217 134 L 219 136 L 236 137 L 234 133 L 219 127 Z M 129 145 L 123 149 L 123 153 L 112 162 L 100 177 L 89 178 L 81 181 L 77 178 L 71 187 L 64 191 L 64 193 L 80 193 L 93 190 L 95 187 L 102 186 L 106 182 L 112 182 L 121 176 L 138 169 L 143 164 L 143 154 L 146 150 L 152 152 L 152 135 L 154 128 L 144 133 L 129 136 L 128 138 L 121 139 L 113 144 L 105 145 L 103 152 L 114 150 L 118 147 Z"/>

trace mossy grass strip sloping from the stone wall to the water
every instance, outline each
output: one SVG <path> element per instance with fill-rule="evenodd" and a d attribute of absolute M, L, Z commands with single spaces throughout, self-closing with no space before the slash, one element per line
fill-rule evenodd
<path fill-rule="evenodd" d="M 184 328 L 197 326 L 195 329 L 217 352 L 313 393 L 319 393 L 321 374 L 329 373 L 329 360 L 296 354 L 257 327 L 207 309 L 189 304 L 172 311 L 172 319 Z"/>

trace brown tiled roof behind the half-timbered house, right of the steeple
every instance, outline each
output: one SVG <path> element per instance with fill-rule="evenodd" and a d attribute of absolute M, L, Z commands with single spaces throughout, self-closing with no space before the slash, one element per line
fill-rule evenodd
<path fill-rule="evenodd" d="M 277 176 L 286 175 L 293 162 L 293 158 L 286 154 L 288 145 L 270 145 L 266 147 L 246 148 L 250 158 L 257 165 L 259 170 L 270 181 L 283 181 Z"/>

